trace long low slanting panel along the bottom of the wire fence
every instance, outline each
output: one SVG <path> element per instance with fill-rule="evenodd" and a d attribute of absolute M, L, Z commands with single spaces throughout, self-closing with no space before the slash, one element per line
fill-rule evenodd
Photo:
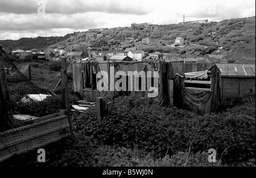
<path fill-rule="evenodd" d="M 0 133 L 0 162 L 71 134 L 67 115 Z"/>

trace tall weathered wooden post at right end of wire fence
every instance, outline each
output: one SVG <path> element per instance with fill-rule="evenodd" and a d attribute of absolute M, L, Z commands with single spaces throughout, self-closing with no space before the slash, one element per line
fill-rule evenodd
<path fill-rule="evenodd" d="M 68 77 L 67 77 L 67 60 L 65 58 L 61 59 L 61 90 L 62 90 L 62 100 L 63 106 L 65 110 L 67 110 L 68 122 L 71 130 L 71 134 L 73 134 L 72 122 L 69 116 L 69 100 L 68 100 Z"/>

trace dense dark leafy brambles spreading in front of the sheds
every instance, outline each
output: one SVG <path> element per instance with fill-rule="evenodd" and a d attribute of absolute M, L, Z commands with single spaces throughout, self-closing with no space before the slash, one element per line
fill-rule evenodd
<path fill-rule="evenodd" d="M 202 116 L 119 97 L 112 113 L 105 115 L 101 123 L 95 108 L 72 118 L 77 133 L 108 145 L 154 152 L 156 156 L 163 156 L 167 150 L 174 154 L 191 148 L 195 154 L 214 148 L 217 158 L 229 164 L 255 159 L 255 105 Z"/>

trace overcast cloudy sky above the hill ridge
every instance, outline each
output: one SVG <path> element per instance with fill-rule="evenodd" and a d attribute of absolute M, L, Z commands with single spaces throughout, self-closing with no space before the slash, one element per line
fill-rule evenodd
<path fill-rule="evenodd" d="M 0 39 L 64 36 L 131 23 L 174 24 L 255 16 L 254 0 L 1 0 Z"/>

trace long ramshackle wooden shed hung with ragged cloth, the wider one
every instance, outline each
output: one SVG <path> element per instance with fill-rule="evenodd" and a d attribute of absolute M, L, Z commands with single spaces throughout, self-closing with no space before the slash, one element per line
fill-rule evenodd
<path fill-rule="evenodd" d="M 152 84 L 154 81 L 158 81 L 158 91 L 153 88 L 154 92 L 162 94 L 162 61 L 85 61 L 83 63 L 73 63 L 72 64 L 72 71 L 73 71 L 73 89 L 75 92 L 81 94 L 81 96 L 87 97 L 90 100 L 96 101 L 97 97 L 103 97 L 106 93 L 108 93 L 109 97 L 112 98 L 117 94 L 125 93 L 131 94 L 133 92 L 142 91 L 142 78 L 139 79 L 139 84 L 135 84 L 135 79 L 133 78 L 132 88 L 134 89 L 135 86 L 139 86 L 138 91 L 130 90 L 127 88 L 129 86 L 126 85 L 125 89 L 121 91 L 117 91 L 116 88 L 113 86 L 116 82 L 122 78 L 122 75 L 118 75 L 119 78 L 115 77 L 118 71 L 122 71 L 123 75 L 126 75 L 126 81 L 130 81 L 129 72 L 138 73 L 144 71 L 147 74 L 147 71 L 151 73 Z M 100 91 L 98 90 L 98 81 L 100 78 L 97 78 L 97 73 L 100 71 L 105 71 L 107 82 L 108 82 L 108 90 Z M 154 76 L 154 71 L 156 71 L 157 78 Z M 139 76 L 138 76 L 139 77 Z M 146 76 L 147 80 L 149 76 Z M 147 81 L 146 80 L 146 81 Z M 123 86 L 122 86 L 123 87 Z M 114 90 L 110 88 L 114 88 Z M 150 90 L 150 88 L 146 84 L 146 89 Z"/>

